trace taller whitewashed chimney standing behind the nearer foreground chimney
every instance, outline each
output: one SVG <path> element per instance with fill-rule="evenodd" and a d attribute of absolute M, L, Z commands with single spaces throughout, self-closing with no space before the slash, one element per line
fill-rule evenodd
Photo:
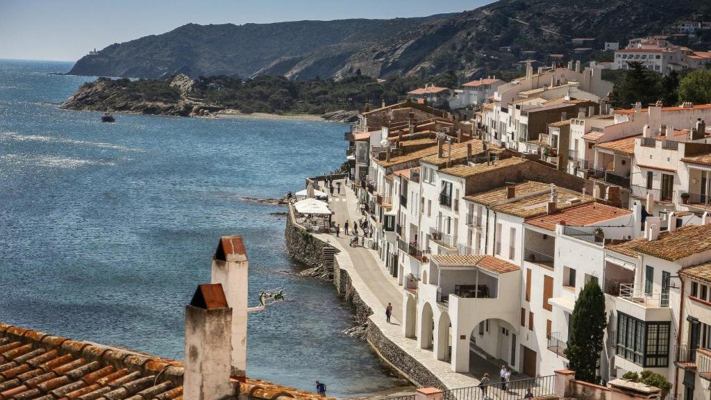
<path fill-rule="evenodd" d="M 232 307 L 231 374 L 232 377 L 237 378 L 245 377 L 247 369 L 247 272 L 249 264 L 242 236 L 233 235 L 220 238 L 213 256 L 212 283 L 222 285 L 228 304 Z"/>

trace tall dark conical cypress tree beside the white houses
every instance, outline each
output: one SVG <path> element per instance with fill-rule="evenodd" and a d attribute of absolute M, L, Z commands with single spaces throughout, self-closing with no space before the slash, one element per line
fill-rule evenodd
<path fill-rule="evenodd" d="M 597 384 L 597 362 L 604 347 L 607 326 L 605 297 L 597 279 L 591 279 L 580 292 L 570 324 L 565 349 L 569 368 L 575 371 L 575 379 Z"/>

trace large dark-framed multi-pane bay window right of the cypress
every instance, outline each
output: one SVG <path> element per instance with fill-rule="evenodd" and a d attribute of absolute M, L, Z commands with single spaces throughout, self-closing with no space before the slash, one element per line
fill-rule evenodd
<path fill-rule="evenodd" d="M 642 367 L 667 367 L 670 322 L 643 322 L 622 312 L 617 316 L 616 354 Z"/>

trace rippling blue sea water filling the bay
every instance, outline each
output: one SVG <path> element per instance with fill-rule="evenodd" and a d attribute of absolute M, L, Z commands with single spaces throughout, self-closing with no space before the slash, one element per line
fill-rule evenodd
<path fill-rule="evenodd" d="M 303 189 L 343 160 L 345 125 L 61 110 L 92 78 L 69 63 L 0 60 L 0 321 L 183 357 L 183 312 L 210 280 L 221 235 L 245 236 L 247 374 L 333 396 L 394 386 L 333 286 L 294 275 L 279 206 L 243 199 Z"/>

